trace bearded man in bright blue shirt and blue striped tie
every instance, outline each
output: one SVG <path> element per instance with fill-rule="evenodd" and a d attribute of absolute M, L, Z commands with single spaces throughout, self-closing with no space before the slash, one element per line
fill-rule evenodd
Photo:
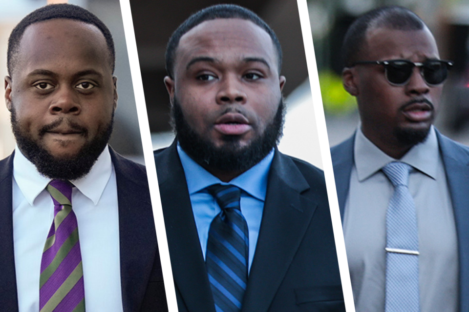
<path fill-rule="evenodd" d="M 180 312 L 345 311 L 323 173 L 276 148 L 281 57 L 236 5 L 169 41 L 176 139 L 154 156 Z"/>

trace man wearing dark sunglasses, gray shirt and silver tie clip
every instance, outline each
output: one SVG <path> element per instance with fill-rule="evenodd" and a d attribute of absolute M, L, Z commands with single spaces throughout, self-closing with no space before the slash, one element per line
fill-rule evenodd
<path fill-rule="evenodd" d="M 357 311 L 469 311 L 469 149 L 432 126 L 452 62 L 402 7 L 357 19 L 342 57 L 361 124 L 331 155 Z"/>

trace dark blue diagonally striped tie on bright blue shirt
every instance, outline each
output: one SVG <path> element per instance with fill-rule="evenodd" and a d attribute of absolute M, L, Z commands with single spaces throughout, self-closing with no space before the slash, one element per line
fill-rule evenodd
<path fill-rule="evenodd" d="M 221 208 L 210 225 L 206 265 L 217 312 L 239 312 L 248 281 L 248 225 L 234 185 L 207 188 Z"/>

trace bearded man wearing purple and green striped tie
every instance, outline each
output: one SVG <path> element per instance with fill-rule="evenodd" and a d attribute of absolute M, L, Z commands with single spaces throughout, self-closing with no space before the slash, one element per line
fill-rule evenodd
<path fill-rule="evenodd" d="M 0 161 L 2 311 L 168 309 L 145 167 L 107 146 L 114 63 L 107 27 L 74 5 L 40 8 L 10 35 L 5 99 L 17 147 Z M 63 221 L 70 203 L 49 194 L 51 180 L 70 191 Z M 79 230 L 66 236 L 73 219 Z M 58 250 L 50 264 L 49 250 Z"/>

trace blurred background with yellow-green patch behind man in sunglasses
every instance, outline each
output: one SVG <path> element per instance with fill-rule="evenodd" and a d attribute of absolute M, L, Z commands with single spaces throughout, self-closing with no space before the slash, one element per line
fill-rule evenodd
<path fill-rule="evenodd" d="M 382 5 L 401 5 L 417 13 L 435 36 L 440 57 L 454 61 L 435 125 L 446 136 L 469 145 L 469 1 L 308 0 L 307 3 L 331 146 L 350 137 L 359 122 L 355 98 L 342 87 L 342 39 L 353 20 Z"/>

